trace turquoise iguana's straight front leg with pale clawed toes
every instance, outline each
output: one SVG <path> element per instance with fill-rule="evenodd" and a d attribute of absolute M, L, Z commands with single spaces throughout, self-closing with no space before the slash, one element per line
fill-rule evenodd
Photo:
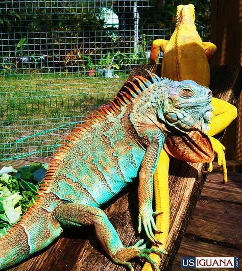
<path fill-rule="evenodd" d="M 152 136 L 152 141 L 147 147 L 146 154 L 141 163 L 139 173 L 139 226 L 138 232 L 141 231 L 141 225 L 144 231 L 152 242 L 160 243 L 153 233 L 153 229 L 159 232 L 156 227 L 154 216 L 159 212 L 154 212 L 152 209 L 153 202 L 153 176 L 158 163 L 160 152 L 164 144 L 165 136 L 159 131 Z"/>

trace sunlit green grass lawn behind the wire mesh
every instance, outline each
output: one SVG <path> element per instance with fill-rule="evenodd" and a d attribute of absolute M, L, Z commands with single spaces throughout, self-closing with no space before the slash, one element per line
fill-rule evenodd
<path fill-rule="evenodd" d="M 75 122 L 113 98 L 125 79 L 65 73 L 0 78 L 0 160 L 52 155 Z"/>

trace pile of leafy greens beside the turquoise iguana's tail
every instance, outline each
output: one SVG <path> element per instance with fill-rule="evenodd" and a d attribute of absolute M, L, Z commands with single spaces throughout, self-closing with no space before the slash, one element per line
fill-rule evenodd
<path fill-rule="evenodd" d="M 0 170 L 0 237 L 34 204 L 46 169 L 47 164 L 34 163 L 18 170 L 12 166 Z"/>

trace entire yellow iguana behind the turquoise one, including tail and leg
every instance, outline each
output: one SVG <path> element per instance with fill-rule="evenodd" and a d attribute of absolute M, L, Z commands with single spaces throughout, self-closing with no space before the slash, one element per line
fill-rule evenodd
<path fill-rule="evenodd" d="M 162 77 L 177 81 L 190 79 L 208 87 L 210 83 L 208 60 L 216 51 L 216 46 L 211 42 L 203 42 L 200 38 L 195 26 L 195 9 L 193 5 L 178 6 L 176 20 L 176 29 L 170 41 L 157 39 L 153 42 L 149 64 L 157 64 L 160 51 L 162 51 Z M 214 112 L 210 120 L 210 130 L 207 131 L 207 134 L 210 136 L 213 150 L 217 154 L 218 164 L 223 165 L 224 182 L 226 182 L 225 147 L 212 136 L 222 132 L 233 121 L 237 116 L 237 109 L 217 98 L 212 98 L 212 106 Z M 163 243 L 163 245 L 159 245 L 160 249 L 165 248 L 170 224 L 168 194 L 168 166 L 170 159 L 166 151 L 162 150 L 154 175 L 156 211 L 163 212 L 161 216 L 156 218 L 156 225 L 163 232 L 162 234 L 156 234 L 156 238 Z M 209 171 L 211 170 L 212 163 L 209 165 Z M 151 256 L 158 264 L 160 263 L 158 255 L 153 254 Z M 142 271 L 148 270 L 152 270 L 152 268 L 149 263 L 146 263 Z"/>

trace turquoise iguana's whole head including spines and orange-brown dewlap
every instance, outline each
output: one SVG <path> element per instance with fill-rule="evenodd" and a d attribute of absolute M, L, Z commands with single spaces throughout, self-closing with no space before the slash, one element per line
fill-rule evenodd
<path fill-rule="evenodd" d="M 132 105 L 131 121 L 138 134 L 149 135 L 152 127 L 158 128 L 166 134 L 166 151 L 175 158 L 212 161 L 211 142 L 205 134 L 212 115 L 211 90 L 191 80 L 178 82 L 149 73 L 153 84 L 136 77 L 144 90 Z M 137 86 L 135 89 L 140 91 Z"/>

